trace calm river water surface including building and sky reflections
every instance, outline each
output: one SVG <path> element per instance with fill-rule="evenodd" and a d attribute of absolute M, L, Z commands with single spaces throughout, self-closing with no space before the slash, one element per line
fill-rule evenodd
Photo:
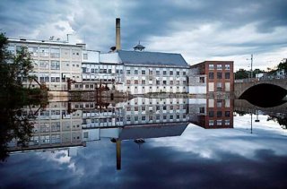
<path fill-rule="evenodd" d="M 230 99 L 23 107 L 29 146 L 7 143 L 0 188 L 284 188 L 287 105 Z"/>

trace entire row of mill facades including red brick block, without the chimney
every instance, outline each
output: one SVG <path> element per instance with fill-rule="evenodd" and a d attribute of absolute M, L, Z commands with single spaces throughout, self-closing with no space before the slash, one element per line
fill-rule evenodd
<path fill-rule="evenodd" d="M 119 90 L 129 94 L 233 91 L 233 62 L 205 61 L 189 66 L 180 54 L 85 49 L 65 41 L 8 39 L 16 54 L 27 48 L 35 79 L 22 78 L 25 87 L 45 85 L 50 91 Z"/>

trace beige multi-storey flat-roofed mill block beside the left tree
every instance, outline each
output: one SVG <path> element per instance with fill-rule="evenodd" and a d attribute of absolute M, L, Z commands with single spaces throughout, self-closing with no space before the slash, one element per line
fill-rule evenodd
<path fill-rule="evenodd" d="M 82 82 L 82 50 L 84 44 L 69 44 L 51 40 L 9 38 L 8 50 L 15 55 L 22 47 L 28 49 L 33 59 L 31 76 L 35 80 L 22 78 L 25 87 L 49 90 L 68 90 L 67 80 Z"/>

